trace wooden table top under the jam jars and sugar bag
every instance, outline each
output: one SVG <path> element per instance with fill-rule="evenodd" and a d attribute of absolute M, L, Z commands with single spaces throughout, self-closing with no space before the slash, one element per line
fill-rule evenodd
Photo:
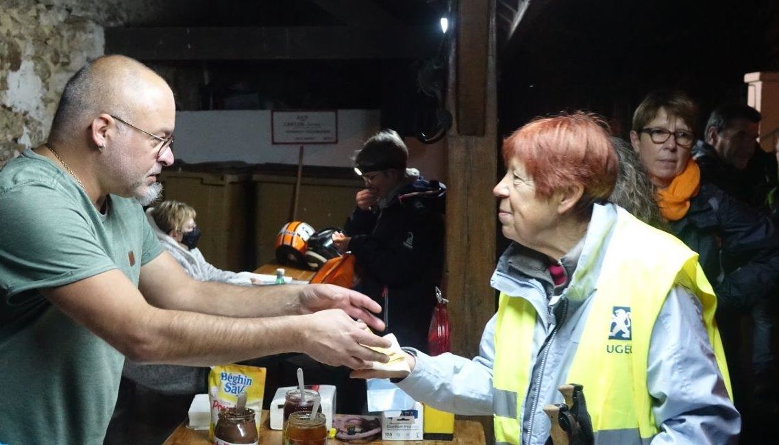
<path fill-rule="evenodd" d="M 186 427 L 186 421 L 165 440 L 163 445 L 212 445 L 208 440 L 208 430 L 195 430 Z M 268 410 L 263 409 L 263 427 L 259 432 L 259 443 L 263 445 L 281 445 L 281 432 L 270 429 L 268 423 Z M 337 439 L 327 440 L 327 443 L 349 443 Z M 374 440 L 368 443 L 382 443 L 384 445 L 404 445 L 410 443 L 423 443 L 425 445 L 479 445 L 485 443 L 485 432 L 481 423 L 472 420 L 456 420 L 454 422 L 454 440 Z"/>

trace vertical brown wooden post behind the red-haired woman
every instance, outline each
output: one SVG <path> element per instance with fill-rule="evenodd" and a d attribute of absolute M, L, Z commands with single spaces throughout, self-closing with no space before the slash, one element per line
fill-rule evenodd
<path fill-rule="evenodd" d="M 485 324 L 495 314 L 489 279 L 495 268 L 497 206 L 497 100 L 495 0 L 460 0 L 456 48 L 449 64 L 449 109 L 456 125 L 448 136 L 446 194 L 446 296 L 452 351 L 478 354 Z M 451 32 L 451 31 L 449 31 Z M 493 443 L 492 417 L 477 418 Z"/>

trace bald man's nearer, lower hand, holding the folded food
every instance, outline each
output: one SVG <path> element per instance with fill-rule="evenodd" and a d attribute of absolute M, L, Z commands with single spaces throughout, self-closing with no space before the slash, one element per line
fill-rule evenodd
<path fill-rule="evenodd" d="M 367 369 L 372 362 L 385 363 L 390 356 L 363 345 L 389 348 L 390 341 L 365 329 L 365 323 L 354 321 L 343 310 L 322 310 L 305 315 L 300 329 L 302 351 L 320 363 Z"/>

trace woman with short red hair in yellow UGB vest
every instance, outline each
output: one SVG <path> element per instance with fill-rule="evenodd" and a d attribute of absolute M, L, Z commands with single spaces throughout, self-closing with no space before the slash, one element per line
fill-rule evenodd
<path fill-rule="evenodd" d="M 618 160 L 603 121 L 532 121 L 503 157 L 493 194 L 513 243 L 492 275 L 499 308 L 479 356 L 406 348 L 411 373 L 354 377 L 403 377 L 434 408 L 493 415 L 496 443 L 547 443 L 544 408 L 567 383 L 587 399 L 569 407 L 571 443 L 735 443 L 711 286 L 681 241 L 608 202 Z"/>

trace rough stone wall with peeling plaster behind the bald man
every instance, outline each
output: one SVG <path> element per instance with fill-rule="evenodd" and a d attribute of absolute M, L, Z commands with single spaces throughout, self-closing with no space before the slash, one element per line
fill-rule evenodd
<path fill-rule="evenodd" d="M 93 18 L 66 5 L 0 3 L 2 165 L 44 141 L 65 82 L 88 58 L 103 54 L 104 35 Z"/>

